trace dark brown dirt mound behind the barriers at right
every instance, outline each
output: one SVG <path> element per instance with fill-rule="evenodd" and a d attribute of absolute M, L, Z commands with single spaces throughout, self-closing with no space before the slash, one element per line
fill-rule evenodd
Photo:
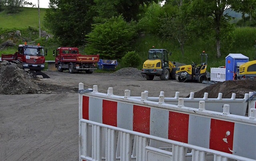
<path fill-rule="evenodd" d="M 231 98 L 232 93 L 236 94 L 236 98 L 244 98 L 245 93 L 253 91 L 256 91 L 256 81 L 253 79 L 224 81 L 195 92 L 194 98 L 203 98 L 204 92 L 208 93 L 208 98 L 218 98 L 219 93 L 222 93 L 222 98 Z"/>

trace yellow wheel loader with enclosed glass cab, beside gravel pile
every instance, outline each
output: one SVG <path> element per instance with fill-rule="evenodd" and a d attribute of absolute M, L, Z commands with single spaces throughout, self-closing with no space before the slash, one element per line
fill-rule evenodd
<path fill-rule="evenodd" d="M 169 55 L 172 53 L 170 52 Z M 175 79 L 175 63 L 168 61 L 168 51 L 166 49 L 150 49 L 148 60 L 143 64 L 142 75 L 146 75 L 147 80 L 160 77 L 162 81 Z"/>

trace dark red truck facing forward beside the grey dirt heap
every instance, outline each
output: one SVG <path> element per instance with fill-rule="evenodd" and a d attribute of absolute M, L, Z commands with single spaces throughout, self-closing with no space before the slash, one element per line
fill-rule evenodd
<path fill-rule="evenodd" d="M 18 46 L 18 51 L 14 54 L 2 55 L 2 60 L 22 62 L 23 69 L 30 69 L 32 71 L 41 71 L 44 69 L 45 57 L 47 49 L 44 52 L 44 47 L 38 45 L 24 45 Z"/>

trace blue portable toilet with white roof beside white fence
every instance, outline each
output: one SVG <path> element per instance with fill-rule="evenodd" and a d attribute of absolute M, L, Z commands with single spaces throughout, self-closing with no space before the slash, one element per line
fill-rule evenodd
<path fill-rule="evenodd" d="M 234 75 L 238 72 L 239 66 L 249 61 L 249 58 L 242 54 L 229 54 L 226 57 L 226 81 L 234 80 Z"/>

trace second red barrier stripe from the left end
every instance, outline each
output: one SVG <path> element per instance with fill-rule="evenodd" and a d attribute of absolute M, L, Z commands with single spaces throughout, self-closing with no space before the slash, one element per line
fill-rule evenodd
<path fill-rule="evenodd" d="M 102 124 L 117 127 L 117 102 L 102 101 Z"/>

